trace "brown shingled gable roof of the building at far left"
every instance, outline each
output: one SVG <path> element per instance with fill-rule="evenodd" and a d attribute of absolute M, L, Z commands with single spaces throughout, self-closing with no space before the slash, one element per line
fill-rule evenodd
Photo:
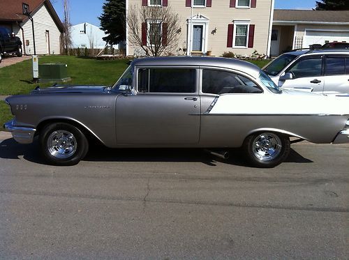
<path fill-rule="evenodd" d="M 29 18 L 23 15 L 22 3 L 27 3 L 29 5 L 30 13 L 35 13 L 36 10 L 40 9 L 40 7 L 45 4 L 54 22 L 57 24 L 59 31 L 64 30 L 64 26 L 50 0 L 1 0 L 0 21 L 26 22 Z"/>

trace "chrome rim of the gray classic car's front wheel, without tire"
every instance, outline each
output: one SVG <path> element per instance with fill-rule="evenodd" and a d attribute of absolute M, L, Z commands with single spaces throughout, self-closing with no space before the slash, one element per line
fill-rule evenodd
<path fill-rule="evenodd" d="M 56 130 L 47 138 L 47 149 L 54 158 L 66 159 L 77 151 L 77 142 L 71 132 Z"/>

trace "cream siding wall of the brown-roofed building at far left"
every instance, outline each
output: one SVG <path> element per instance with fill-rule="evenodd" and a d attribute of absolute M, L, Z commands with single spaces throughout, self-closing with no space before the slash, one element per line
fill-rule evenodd
<path fill-rule="evenodd" d="M 50 54 L 60 54 L 61 46 L 60 46 L 60 37 L 61 32 L 59 31 L 57 24 L 54 22 L 52 16 L 45 4 L 41 6 L 33 15 L 34 19 L 34 32 L 35 32 L 35 45 L 36 45 L 36 54 L 49 54 L 46 43 L 46 31 L 49 31 L 50 35 Z M 34 41 L 33 41 L 33 33 L 31 28 L 31 20 L 27 20 L 26 22 L 21 24 L 24 30 L 24 47 L 26 54 L 34 54 Z M 14 33 L 21 40 L 22 30 L 20 30 L 19 26 L 14 26 Z M 25 44 L 25 40 L 29 40 L 29 45 Z"/>

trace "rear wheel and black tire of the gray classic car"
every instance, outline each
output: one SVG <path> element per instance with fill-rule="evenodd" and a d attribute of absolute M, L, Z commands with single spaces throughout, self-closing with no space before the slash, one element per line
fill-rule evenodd
<path fill-rule="evenodd" d="M 242 146 L 254 167 L 272 168 L 280 165 L 290 154 L 290 139 L 275 132 L 258 132 L 246 137 Z"/>

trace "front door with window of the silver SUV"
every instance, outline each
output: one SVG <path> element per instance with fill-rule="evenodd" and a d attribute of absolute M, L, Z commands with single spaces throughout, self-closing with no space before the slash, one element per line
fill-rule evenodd
<path fill-rule="evenodd" d="M 292 79 L 279 79 L 279 87 L 322 94 L 325 83 L 322 75 L 322 59 L 322 56 L 316 55 L 295 61 L 285 70 L 286 73 L 290 72 L 292 74 Z"/>

